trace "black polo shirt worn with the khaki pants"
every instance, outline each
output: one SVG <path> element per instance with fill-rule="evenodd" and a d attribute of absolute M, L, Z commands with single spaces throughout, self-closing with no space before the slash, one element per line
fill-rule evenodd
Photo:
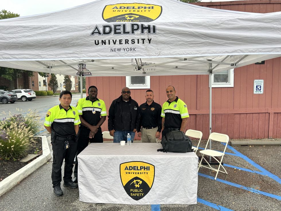
<path fill-rule="evenodd" d="M 161 132 L 161 105 L 152 102 L 150 105 L 147 102 L 140 105 L 141 120 L 138 132 L 142 127 L 158 127 L 158 132 Z"/>

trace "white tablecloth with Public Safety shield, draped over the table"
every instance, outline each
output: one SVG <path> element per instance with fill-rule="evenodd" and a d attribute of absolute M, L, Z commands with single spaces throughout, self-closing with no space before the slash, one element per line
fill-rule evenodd
<path fill-rule="evenodd" d="M 159 143 L 92 143 L 78 155 L 80 201 L 196 204 L 198 157 L 157 152 Z"/>

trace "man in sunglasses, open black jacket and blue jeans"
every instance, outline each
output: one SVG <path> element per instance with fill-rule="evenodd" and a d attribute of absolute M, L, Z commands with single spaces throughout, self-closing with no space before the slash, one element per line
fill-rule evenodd
<path fill-rule="evenodd" d="M 130 133 L 133 142 L 135 133 L 140 123 L 140 109 L 138 103 L 131 97 L 128 87 L 124 87 L 121 96 L 113 100 L 108 114 L 108 130 L 114 137 L 113 142 L 127 142 L 127 135 Z"/>

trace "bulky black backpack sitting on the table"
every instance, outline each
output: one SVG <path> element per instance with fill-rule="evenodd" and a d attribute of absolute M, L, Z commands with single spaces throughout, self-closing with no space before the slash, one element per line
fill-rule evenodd
<path fill-rule="evenodd" d="M 192 142 L 182 131 L 170 131 L 162 137 L 164 152 L 193 152 Z"/>

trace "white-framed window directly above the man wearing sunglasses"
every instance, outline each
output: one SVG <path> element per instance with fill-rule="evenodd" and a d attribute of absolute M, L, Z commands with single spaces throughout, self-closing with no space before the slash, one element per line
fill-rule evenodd
<path fill-rule="evenodd" d="M 150 76 L 126 76 L 126 86 L 130 89 L 150 89 Z"/>

